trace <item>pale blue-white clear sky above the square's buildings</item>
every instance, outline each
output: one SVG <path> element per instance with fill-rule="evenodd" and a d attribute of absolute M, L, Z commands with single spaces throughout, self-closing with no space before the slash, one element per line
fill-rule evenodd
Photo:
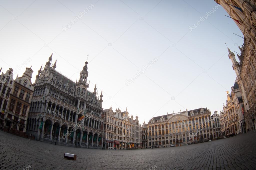
<path fill-rule="evenodd" d="M 88 57 L 88 90 L 103 90 L 104 109 L 128 107 L 140 124 L 186 109 L 219 113 L 236 79 L 227 46 L 243 45 L 225 15 L 214 0 L 1 0 L 0 67 L 16 77 L 32 66 L 34 83 L 53 53 L 76 81 Z"/>

